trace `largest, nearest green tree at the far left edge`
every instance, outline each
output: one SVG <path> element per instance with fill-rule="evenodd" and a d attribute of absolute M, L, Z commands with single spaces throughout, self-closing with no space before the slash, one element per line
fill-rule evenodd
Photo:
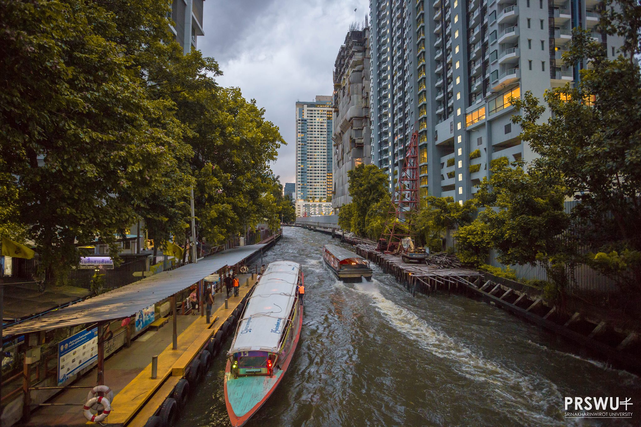
<path fill-rule="evenodd" d="M 119 28 L 103 6 L 0 0 L 1 166 L 11 174 L 1 186 L 17 194 L 16 222 L 54 284 L 78 262 L 77 243 L 113 244 L 191 154 L 172 104 L 149 96 L 113 42 Z"/>

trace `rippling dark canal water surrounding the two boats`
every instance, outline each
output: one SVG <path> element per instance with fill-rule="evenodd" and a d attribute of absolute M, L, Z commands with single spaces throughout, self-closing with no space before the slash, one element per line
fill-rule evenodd
<path fill-rule="evenodd" d="M 265 264 L 303 264 L 305 314 L 287 375 L 247 426 L 638 425 L 637 376 L 486 303 L 413 298 L 378 266 L 371 282 L 343 284 L 322 261 L 330 242 L 286 227 L 265 254 Z M 221 353 L 179 426 L 229 426 L 224 363 Z M 565 396 L 631 397 L 637 414 L 629 424 L 563 419 Z"/>

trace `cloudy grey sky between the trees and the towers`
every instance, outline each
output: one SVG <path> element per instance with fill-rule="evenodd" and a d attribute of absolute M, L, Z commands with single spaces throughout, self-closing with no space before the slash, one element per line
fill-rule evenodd
<path fill-rule="evenodd" d="M 354 12 L 356 9 L 356 12 Z M 272 165 L 294 182 L 296 101 L 331 95 L 332 70 L 352 22 L 363 22 L 367 0 L 206 0 L 198 47 L 221 66 L 223 86 L 239 87 L 267 111 L 288 145 Z"/>

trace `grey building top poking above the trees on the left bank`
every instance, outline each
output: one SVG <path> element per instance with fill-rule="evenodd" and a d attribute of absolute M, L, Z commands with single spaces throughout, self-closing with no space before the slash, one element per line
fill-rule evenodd
<path fill-rule="evenodd" d="M 183 47 L 183 54 L 188 54 L 192 46 L 196 49 L 197 36 L 204 36 L 203 1 L 173 0 L 171 4 L 171 19 L 176 26 L 170 25 L 169 28 Z"/>

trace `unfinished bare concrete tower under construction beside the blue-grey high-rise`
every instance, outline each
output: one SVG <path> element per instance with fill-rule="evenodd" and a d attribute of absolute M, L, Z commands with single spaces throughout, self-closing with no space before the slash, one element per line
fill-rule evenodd
<path fill-rule="evenodd" d="M 367 20 L 362 29 L 352 24 L 334 64 L 333 197 L 336 211 L 351 202 L 347 172 L 369 165 L 370 50 Z"/>

